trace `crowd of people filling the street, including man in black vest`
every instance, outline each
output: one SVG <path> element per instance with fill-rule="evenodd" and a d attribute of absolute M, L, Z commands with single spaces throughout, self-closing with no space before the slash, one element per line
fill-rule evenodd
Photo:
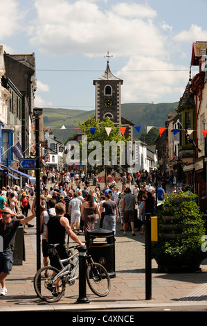
<path fill-rule="evenodd" d="M 132 232 L 138 215 L 143 221 L 141 234 L 145 232 L 146 213 L 153 214 L 155 200 L 164 200 L 165 186 L 162 177 L 155 189 L 154 173 L 140 171 L 138 173 L 118 173 L 118 187 L 116 171 L 109 173 L 106 186 L 100 186 L 96 174 L 86 175 L 84 171 L 51 171 L 42 169 L 40 178 L 40 228 L 42 233 L 42 253 L 44 266 L 48 266 L 49 259 L 52 266 L 57 266 L 48 255 L 48 243 L 60 243 L 58 252 L 60 257 L 66 257 L 65 234 L 76 241 L 80 246 L 80 232 L 87 239 L 87 232 L 94 230 L 97 216 L 100 219 L 99 228 L 114 231 L 116 237 L 116 221 L 120 222 L 123 235 Z M 170 177 L 169 177 L 170 178 Z M 157 179 L 158 180 L 158 179 Z M 170 181 L 169 181 L 170 182 Z M 174 187 L 172 192 L 191 190 L 189 186 Z M 157 190 L 157 192 L 156 192 Z M 35 217 L 37 205 L 34 185 L 26 183 L 20 188 L 18 185 L 2 187 L 0 189 L 0 236 L 3 237 L 3 251 L 0 250 L 0 294 L 5 295 L 6 276 L 10 274 L 12 264 L 12 250 L 14 247 L 15 232 L 19 225 L 32 228 L 29 222 Z M 138 214 L 139 210 L 139 214 Z M 29 215 L 30 214 L 30 215 Z M 58 232 L 57 232 L 58 230 Z M 1 240 L 1 238 L 0 238 Z M 1 241 L 0 241 L 1 246 Z"/>

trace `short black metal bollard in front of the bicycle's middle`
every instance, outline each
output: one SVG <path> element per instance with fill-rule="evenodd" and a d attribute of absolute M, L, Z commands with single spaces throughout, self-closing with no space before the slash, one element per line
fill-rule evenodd
<path fill-rule="evenodd" d="M 86 280 L 86 247 L 79 247 L 79 297 L 76 303 L 90 303 L 87 298 L 87 280 Z"/>

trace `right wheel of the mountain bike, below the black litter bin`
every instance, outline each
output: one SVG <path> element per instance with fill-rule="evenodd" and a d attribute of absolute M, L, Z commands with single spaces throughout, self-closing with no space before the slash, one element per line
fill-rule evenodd
<path fill-rule="evenodd" d="M 91 291 L 99 297 L 105 297 L 111 289 L 111 280 L 104 266 L 99 263 L 87 267 L 87 283 Z"/>

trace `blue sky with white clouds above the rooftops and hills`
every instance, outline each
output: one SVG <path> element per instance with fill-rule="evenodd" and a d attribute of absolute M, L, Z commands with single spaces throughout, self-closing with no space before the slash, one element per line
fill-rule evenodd
<path fill-rule="evenodd" d="M 0 44 L 35 53 L 39 108 L 94 110 L 109 66 L 122 103 L 177 102 L 192 42 L 207 41 L 206 0 L 0 0 Z M 192 67 L 192 76 L 197 67 Z"/>

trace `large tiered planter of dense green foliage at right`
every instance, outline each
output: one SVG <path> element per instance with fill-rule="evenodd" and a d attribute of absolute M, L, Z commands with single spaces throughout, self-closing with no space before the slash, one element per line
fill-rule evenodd
<path fill-rule="evenodd" d="M 198 237 L 202 230 L 197 205 L 193 196 L 184 196 L 186 194 L 183 197 L 169 196 L 163 203 L 162 212 L 159 212 L 159 241 L 153 243 L 152 255 L 158 268 L 167 272 L 180 272 L 184 269 L 197 271 L 201 261 L 206 258 L 206 252 L 201 252 Z M 186 202 L 189 205 L 185 205 Z M 189 208 L 186 209 L 187 207 Z M 199 225 L 199 229 L 196 225 Z"/>

